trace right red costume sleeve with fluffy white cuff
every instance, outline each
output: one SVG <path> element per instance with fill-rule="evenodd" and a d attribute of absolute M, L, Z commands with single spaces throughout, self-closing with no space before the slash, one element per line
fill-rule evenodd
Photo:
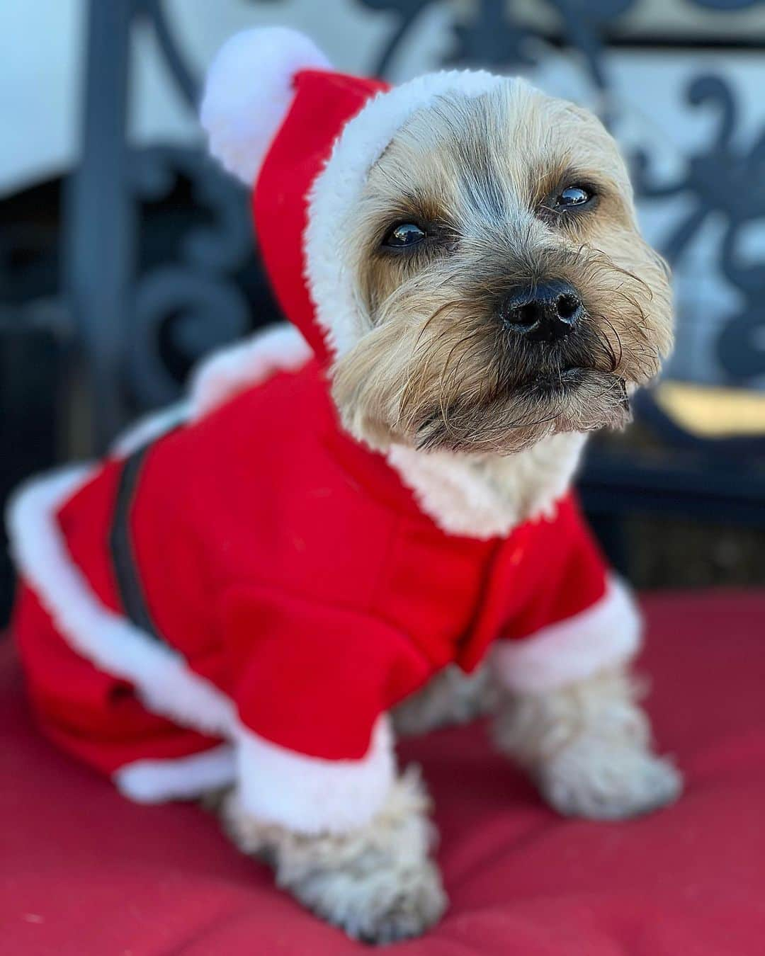
<path fill-rule="evenodd" d="M 524 557 L 529 598 L 497 641 L 501 684 L 529 693 L 584 680 L 623 663 L 640 646 L 641 621 L 626 587 L 609 573 L 572 497 L 540 522 Z"/>

